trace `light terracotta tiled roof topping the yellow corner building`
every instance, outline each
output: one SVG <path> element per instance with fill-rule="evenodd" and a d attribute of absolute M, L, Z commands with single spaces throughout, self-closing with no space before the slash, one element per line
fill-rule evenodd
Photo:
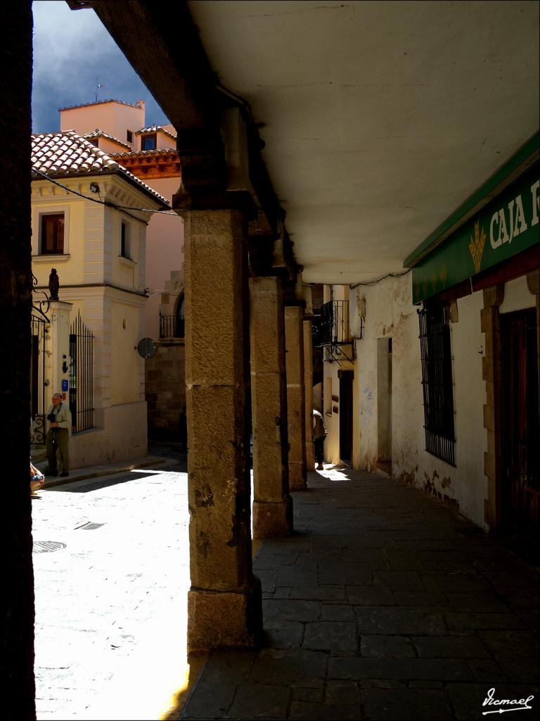
<path fill-rule="evenodd" d="M 120 174 L 159 203 L 170 207 L 163 195 L 74 131 L 32 135 L 32 180 L 40 179 L 38 172 L 50 177 Z"/>

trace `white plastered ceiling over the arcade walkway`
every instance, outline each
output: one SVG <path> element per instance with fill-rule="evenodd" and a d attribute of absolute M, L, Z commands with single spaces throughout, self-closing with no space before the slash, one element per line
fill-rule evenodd
<path fill-rule="evenodd" d="M 536 1 L 189 2 L 248 100 L 303 279 L 403 260 L 539 128 Z"/>

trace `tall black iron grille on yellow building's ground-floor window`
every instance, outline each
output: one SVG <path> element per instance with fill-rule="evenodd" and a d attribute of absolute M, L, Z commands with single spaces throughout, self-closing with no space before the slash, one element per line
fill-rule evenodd
<path fill-rule="evenodd" d="M 71 430 L 94 428 L 94 334 L 77 314 L 69 334 Z"/>

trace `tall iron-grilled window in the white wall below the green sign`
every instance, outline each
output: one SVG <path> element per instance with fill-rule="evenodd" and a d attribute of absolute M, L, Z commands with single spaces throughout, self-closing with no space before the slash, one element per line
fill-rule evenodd
<path fill-rule="evenodd" d="M 448 309 L 430 304 L 418 311 L 426 451 L 455 466 L 454 387 Z"/>

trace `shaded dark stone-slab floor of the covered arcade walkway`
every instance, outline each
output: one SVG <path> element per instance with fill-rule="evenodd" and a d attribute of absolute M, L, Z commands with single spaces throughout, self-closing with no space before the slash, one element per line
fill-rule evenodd
<path fill-rule="evenodd" d="M 211 653 L 168 718 L 489 719 L 490 689 L 540 718 L 538 574 L 419 490 L 325 468 L 256 556 L 264 647 Z"/>

